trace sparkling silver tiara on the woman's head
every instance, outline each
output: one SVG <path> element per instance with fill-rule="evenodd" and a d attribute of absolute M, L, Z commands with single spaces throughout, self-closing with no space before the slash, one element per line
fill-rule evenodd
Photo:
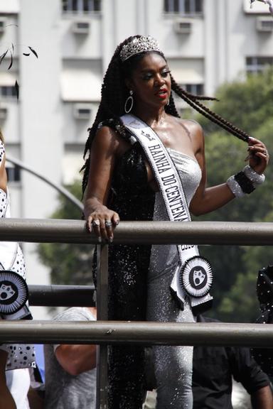
<path fill-rule="evenodd" d="M 122 62 L 128 60 L 132 55 L 143 53 L 144 51 L 159 51 L 159 43 L 151 36 L 141 36 L 134 38 L 130 43 L 124 45 L 120 52 L 120 59 Z"/>

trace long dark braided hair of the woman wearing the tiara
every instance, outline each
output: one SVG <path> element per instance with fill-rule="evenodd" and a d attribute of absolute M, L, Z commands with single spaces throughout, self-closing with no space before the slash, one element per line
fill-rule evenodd
<path fill-rule="evenodd" d="M 92 141 L 95 138 L 95 134 L 97 132 L 98 126 L 103 121 L 109 121 L 111 119 L 111 126 L 122 136 L 126 136 L 126 131 L 120 120 L 120 116 L 124 114 L 124 102 L 129 96 L 129 90 L 125 84 L 125 79 L 130 77 L 134 68 L 137 66 L 137 63 L 144 55 L 147 53 L 159 53 L 164 60 L 164 54 L 159 51 L 148 51 L 144 53 L 139 53 L 137 55 L 133 55 L 128 60 L 124 62 L 121 61 L 119 55 L 124 47 L 130 43 L 134 38 L 139 38 L 141 36 L 132 36 L 124 40 L 123 43 L 120 43 L 116 50 L 114 51 L 114 55 L 112 56 L 112 60 L 109 62 L 109 66 L 107 68 L 107 72 L 105 73 L 105 77 L 102 83 L 101 89 L 101 101 L 99 109 L 97 110 L 97 115 L 95 118 L 92 127 L 88 129 L 89 136 L 85 143 L 85 151 L 84 151 L 84 158 L 87 155 L 87 152 L 90 152 Z M 232 133 L 232 135 L 237 136 L 237 138 L 242 139 L 242 141 L 248 141 L 250 136 L 242 129 L 237 128 L 237 126 L 231 124 L 230 122 L 223 119 L 222 116 L 216 114 L 215 112 L 211 111 L 208 107 L 205 107 L 200 101 L 213 101 L 216 100 L 215 98 L 205 97 L 200 95 L 194 95 L 187 92 L 185 89 L 181 88 L 177 82 L 173 79 L 171 75 L 171 90 L 175 92 L 178 97 L 181 97 L 185 102 L 187 102 L 193 109 L 196 109 L 200 114 L 205 116 L 206 118 L 213 121 L 215 124 L 218 124 L 221 128 L 225 129 L 226 131 Z M 176 105 L 173 100 L 173 95 L 171 93 L 169 103 L 165 106 L 165 111 L 167 114 L 179 117 L 178 111 L 176 109 Z M 82 179 L 82 191 L 85 191 L 85 187 L 87 186 L 88 180 L 88 173 L 90 168 L 90 153 L 87 159 L 85 160 L 85 165 L 83 165 L 82 170 L 84 170 L 83 179 Z"/>

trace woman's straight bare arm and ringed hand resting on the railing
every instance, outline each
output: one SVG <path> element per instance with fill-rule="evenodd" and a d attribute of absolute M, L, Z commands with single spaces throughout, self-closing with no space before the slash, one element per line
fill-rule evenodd
<path fill-rule="evenodd" d="M 103 126 L 97 131 L 90 153 L 90 171 L 84 201 L 88 231 L 93 229 L 97 236 L 110 241 L 113 238 L 113 228 L 119 222 L 119 215 L 108 209 L 106 204 L 119 145 L 119 139 L 112 129 Z M 111 221 L 112 227 L 105 226 L 105 221 Z"/>

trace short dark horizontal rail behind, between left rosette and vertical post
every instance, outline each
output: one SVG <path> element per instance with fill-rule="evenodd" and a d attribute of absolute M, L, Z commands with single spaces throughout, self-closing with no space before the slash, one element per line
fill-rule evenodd
<path fill-rule="evenodd" d="M 94 285 L 28 285 L 30 305 L 93 307 Z"/>

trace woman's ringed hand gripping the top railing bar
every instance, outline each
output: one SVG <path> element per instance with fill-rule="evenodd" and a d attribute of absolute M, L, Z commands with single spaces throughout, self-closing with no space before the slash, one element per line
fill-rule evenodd
<path fill-rule="evenodd" d="M 87 231 L 94 231 L 99 241 L 101 239 L 113 241 L 114 228 L 119 224 L 119 215 L 116 212 L 100 205 L 91 213 L 85 212 L 85 220 Z"/>

